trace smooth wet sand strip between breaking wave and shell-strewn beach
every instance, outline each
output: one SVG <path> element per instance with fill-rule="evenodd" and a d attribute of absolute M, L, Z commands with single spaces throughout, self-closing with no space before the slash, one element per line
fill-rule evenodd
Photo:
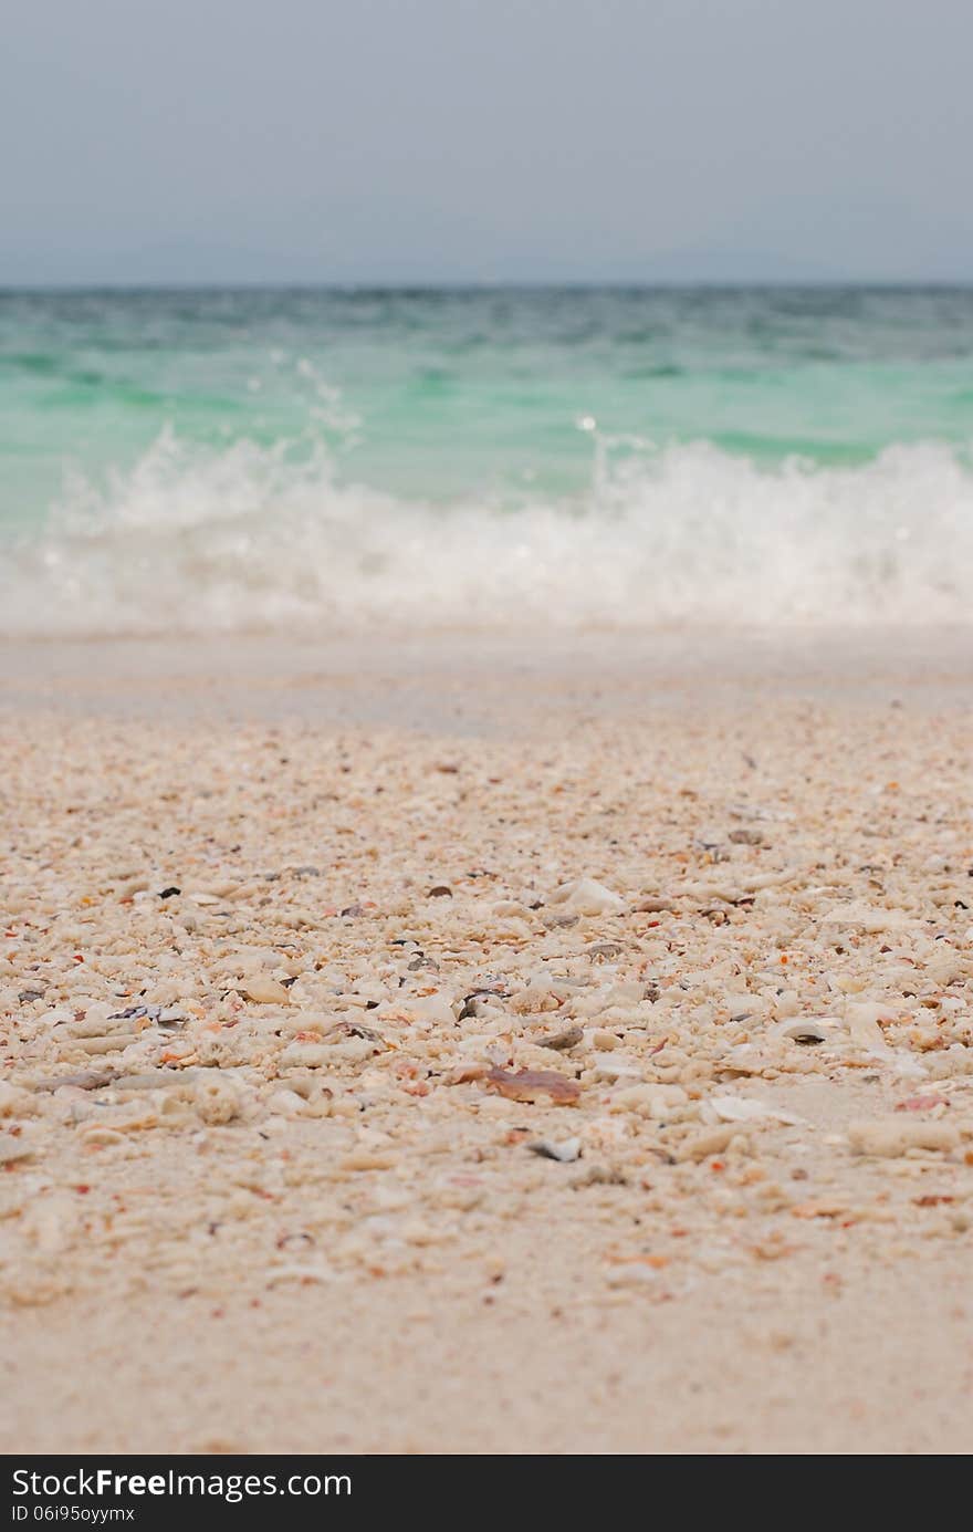
<path fill-rule="evenodd" d="M 408 729 L 443 722 L 440 688 L 460 715 L 530 726 L 536 706 L 607 697 L 653 706 L 680 688 L 699 697 L 820 696 L 852 702 L 944 688 L 964 694 L 973 673 L 971 624 L 690 624 L 627 630 L 397 627 L 336 633 L 198 633 L 127 637 L 8 636 L 0 706 L 192 712 L 205 694 L 219 714 L 348 717 Z M 395 703 L 400 688 L 408 706 Z M 513 692 L 510 688 L 513 686 Z M 385 711 L 382 711 L 385 706 Z M 316 712 L 317 709 L 317 712 Z M 501 712 L 504 709 L 501 708 Z M 463 725 L 461 726 L 469 726 Z"/>

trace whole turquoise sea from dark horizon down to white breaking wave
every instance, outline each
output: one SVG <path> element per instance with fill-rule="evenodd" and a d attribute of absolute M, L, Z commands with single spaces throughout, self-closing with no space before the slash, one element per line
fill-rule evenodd
<path fill-rule="evenodd" d="M 0 294 L 0 622 L 965 616 L 971 443 L 973 290 Z"/>

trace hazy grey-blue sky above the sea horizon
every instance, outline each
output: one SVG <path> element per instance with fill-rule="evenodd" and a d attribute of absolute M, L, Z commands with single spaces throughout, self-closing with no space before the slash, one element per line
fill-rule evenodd
<path fill-rule="evenodd" d="M 0 285 L 973 280 L 970 0 L 5 0 Z"/>

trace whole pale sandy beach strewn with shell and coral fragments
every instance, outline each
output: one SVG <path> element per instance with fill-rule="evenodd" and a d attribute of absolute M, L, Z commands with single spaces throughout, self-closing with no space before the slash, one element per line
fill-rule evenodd
<path fill-rule="evenodd" d="M 968 1452 L 971 660 L 9 643 L 0 1449 Z"/>

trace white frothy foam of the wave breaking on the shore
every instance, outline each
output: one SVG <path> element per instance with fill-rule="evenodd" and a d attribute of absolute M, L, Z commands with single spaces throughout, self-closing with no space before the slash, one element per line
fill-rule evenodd
<path fill-rule="evenodd" d="M 769 470 L 700 443 L 602 461 L 570 502 L 434 507 L 340 484 L 323 452 L 165 432 L 0 559 L 8 634 L 956 622 L 973 472 L 936 444 Z"/>

